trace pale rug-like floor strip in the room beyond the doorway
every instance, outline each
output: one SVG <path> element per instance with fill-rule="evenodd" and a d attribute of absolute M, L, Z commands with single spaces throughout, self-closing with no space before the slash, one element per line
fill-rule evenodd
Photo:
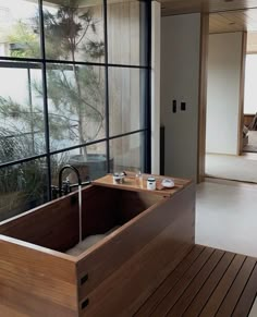
<path fill-rule="evenodd" d="M 257 160 L 246 159 L 241 156 L 207 154 L 206 175 L 257 183 Z"/>

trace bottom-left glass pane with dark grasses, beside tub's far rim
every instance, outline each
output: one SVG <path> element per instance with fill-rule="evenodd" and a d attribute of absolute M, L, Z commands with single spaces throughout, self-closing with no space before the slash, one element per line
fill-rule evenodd
<path fill-rule="evenodd" d="M 47 202 L 46 159 L 0 169 L 0 221 Z"/>

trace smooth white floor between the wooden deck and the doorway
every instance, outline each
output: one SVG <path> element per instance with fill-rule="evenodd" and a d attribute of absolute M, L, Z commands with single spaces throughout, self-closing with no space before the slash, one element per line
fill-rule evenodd
<path fill-rule="evenodd" d="M 199 184 L 196 243 L 257 257 L 257 185 L 221 180 Z"/>

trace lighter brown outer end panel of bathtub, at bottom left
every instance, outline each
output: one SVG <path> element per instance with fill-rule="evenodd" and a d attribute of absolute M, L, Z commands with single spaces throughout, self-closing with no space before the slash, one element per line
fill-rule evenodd
<path fill-rule="evenodd" d="M 0 304 L 4 317 L 77 316 L 75 261 L 0 235 Z"/>

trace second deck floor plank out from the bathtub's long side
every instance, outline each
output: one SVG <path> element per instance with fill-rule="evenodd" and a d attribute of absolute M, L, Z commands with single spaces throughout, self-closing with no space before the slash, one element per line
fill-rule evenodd
<path fill-rule="evenodd" d="M 174 288 L 167 294 L 163 301 L 158 305 L 155 312 L 151 314 L 154 317 L 166 316 L 170 308 L 176 303 L 180 296 L 187 289 L 189 283 L 194 280 L 197 273 L 201 270 L 208 259 L 211 257 L 213 248 L 205 248 L 200 256 L 195 260 L 195 263 L 185 272 L 182 279 L 174 285 Z"/>

